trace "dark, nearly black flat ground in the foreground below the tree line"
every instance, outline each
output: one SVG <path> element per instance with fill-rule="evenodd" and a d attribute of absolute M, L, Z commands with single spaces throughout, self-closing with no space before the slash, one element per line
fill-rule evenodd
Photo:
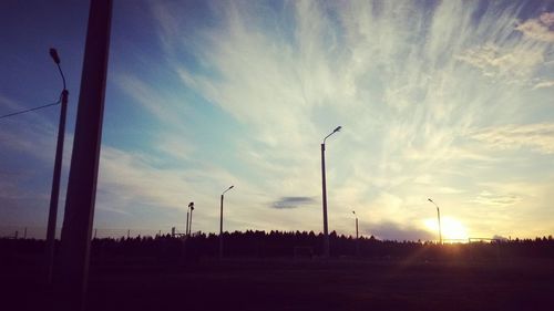
<path fill-rule="evenodd" d="M 0 310 L 57 310 L 39 267 L 0 271 Z M 88 310 L 554 310 L 554 260 L 96 262 Z"/>

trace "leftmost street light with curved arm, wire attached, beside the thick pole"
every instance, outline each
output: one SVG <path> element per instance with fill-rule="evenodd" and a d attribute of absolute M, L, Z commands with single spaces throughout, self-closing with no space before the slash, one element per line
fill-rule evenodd
<path fill-rule="evenodd" d="M 65 115 L 68 112 L 68 95 L 65 89 L 65 76 L 63 75 L 62 68 L 60 66 L 60 56 L 55 49 L 50 49 L 50 56 L 58 66 L 58 71 L 62 77 L 63 90 L 61 94 L 61 110 L 60 110 L 60 124 L 58 125 L 58 144 L 55 146 L 54 173 L 52 177 L 52 189 L 50 193 L 50 210 L 48 214 L 48 229 L 47 229 L 47 281 L 52 282 L 53 266 L 54 266 L 54 245 L 55 245 L 55 224 L 58 219 L 58 199 L 60 196 L 60 176 L 62 170 L 63 158 L 63 139 L 65 137 Z"/>

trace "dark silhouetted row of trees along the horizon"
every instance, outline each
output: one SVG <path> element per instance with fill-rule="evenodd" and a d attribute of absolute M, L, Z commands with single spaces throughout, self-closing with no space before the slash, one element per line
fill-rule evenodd
<path fill-rule="evenodd" d="M 297 258 L 317 259 L 321 255 L 324 236 L 314 231 L 235 231 L 225 232 L 225 258 Z M 332 258 L 372 260 L 502 260 L 510 258 L 554 258 L 552 236 L 535 239 L 494 240 L 492 242 L 445 243 L 429 241 L 359 239 L 329 235 Z M 59 241 L 57 248 L 59 248 Z M 0 239 L 0 260 L 16 260 L 38 256 L 44 251 L 44 241 L 35 239 Z M 150 259 L 175 261 L 217 258 L 219 236 L 199 232 L 192 237 L 162 235 L 155 237 L 93 239 L 91 259 Z"/>

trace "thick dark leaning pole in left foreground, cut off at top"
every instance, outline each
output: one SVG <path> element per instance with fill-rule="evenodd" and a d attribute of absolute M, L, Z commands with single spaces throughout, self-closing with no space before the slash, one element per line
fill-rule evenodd
<path fill-rule="evenodd" d="M 61 237 L 58 310 L 84 310 L 102 120 L 110 50 L 112 0 L 91 1 Z"/>

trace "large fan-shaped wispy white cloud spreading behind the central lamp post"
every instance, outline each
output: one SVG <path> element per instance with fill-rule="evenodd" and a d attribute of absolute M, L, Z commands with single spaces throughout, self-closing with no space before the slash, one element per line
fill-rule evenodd
<path fill-rule="evenodd" d="M 160 35 L 196 58 L 168 56 L 183 85 L 250 128 L 237 153 L 270 176 L 258 183 L 264 191 L 317 197 L 318 141 L 345 125 L 327 149 L 330 216 L 356 208 L 403 224 L 421 212 L 411 191 L 464 200 L 471 186 L 451 172 L 499 159 L 461 142 L 502 131 L 490 121 L 512 117 L 520 92 L 546 79 L 537 70 L 547 46 L 510 35 L 515 12 L 505 3 L 291 2 L 277 12 L 233 2 L 212 7 L 217 23 L 164 25 Z M 178 10 L 165 13 L 175 20 Z M 412 185 L 428 172 L 453 185 Z"/>

